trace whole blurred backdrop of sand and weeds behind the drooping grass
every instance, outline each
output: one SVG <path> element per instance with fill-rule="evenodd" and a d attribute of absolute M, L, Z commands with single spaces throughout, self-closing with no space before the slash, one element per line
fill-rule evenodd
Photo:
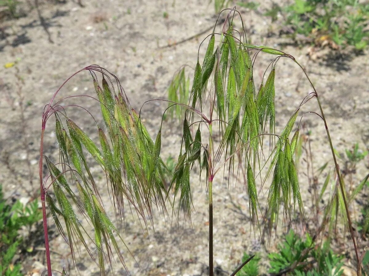
<path fill-rule="evenodd" d="M 368 1 L 0 0 L 1 275 L 36 276 L 45 270 L 39 143 L 42 110 L 56 89 L 74 72 L 98 64 L 117 75 L 135 109 L 145 100 L 168 98 L 170 81 L 179 68 L 188 65 L 186 74 L 192 81 L 197 55 L 199 53 L 202 60 L 206 51 L 206 46 L 199 49 L 201 41 L 212 33 L 219 12 L 234 6 L 242 15 L 249 43 L 291 54 L 303 65 L 317 88 L 346 192 L 351 198 L 350 212 L 363 266 L 369 264 L 369 254 L 365 255 L 369 226 L 369 184 L 365 178 L 369 171 Z M 221 14 L 220 18 L 224 19 L 225 15 Z M 217 24 L 218 32 L 222 26 Z M 235 29 L 241 28 L 237 21 Z M 272 60 L 273 57 L 260 54 L 255 63 L 255 79 L 261 81 Z M 312 89 L 291 61 L 281 60 L 278 69 L 276 112 L 284 119 L 276 125 L 281 130 Z M 92 93 L 91 77 L 82 73 L 63 87 L 61 97 Z M 76 102 L 92 111 L 98 108 L 93 101 Z M 145 106 L 143 118 L 151 133 L 158 131 L 165 108 L 166 105 L 156 103 Z M 318 110 L 313 103 L 307 105 L 307 109 Z M 74 116 L 85 126 L 86 132 L 95 131 L 93 122 L 83 114 L 77 111 Z M 176 158 L 175 148 L 180 144 L 182 126 L 175 119 L 166 120 L 162 151 L 168 157 L 168 165 L 174 166 L 170 162 Z M 324 124 L 317 116 L 305 116 L 302 125 L 301 152 L 296 162 L 299 162 L 308 222 L 287 236 L 297 244 L 306 241 L 306 231 L 317 231 L 314 217 L 323 215 L 322 206 L 327 204 L 322 195 L 327 192 L 334 199 L 337 184 Z M 58 145 L 52 124 L 46 127 L 45 136 L 45 154 L 57 159 Z M 198 183 L 196 176 L 194 183 Z M 102 196 L 109 197 L 107 191 Z M 122 235 L 135 256 L 134 259 L 127 254 L 126 260 L 132 275 L 208 274 L 204 185 L 193 188 L 193 199 L 197 212 L 192 226 L 170 223 L 158 215 L 154 233 L 152 229 L 142 230 L 137 221 L 127 221 Z M 288 229 L 276 233 L 270 244 L 261 241 L 257 234 L 254 236 L 247 199 L 242 183 L 230 189 L 227 185 L 214 188 L 217 275 L 230 275 L 242 258 L 255 252 L 258 255 L 252 267 L 239 275 L 277 273 L 295 260 L 294 256 L 268 257 L 270 252 L 280 254 Z M 338 195 L 336 199 L 339 200 Z M 320 244 L 334 233 L 326 251 L 332 259 L 337 258 L 337 262 L 332 261 L 331 270 L 339 268 L 342 275 L 355 275 L 357 263 L 349 231 L 340 219 L 339 210 L 330 215 L 335 217 L 334 223 L 322 235 Z M 58 271 L 65 268 L 68 275 L 100 275 L 96 263 L 83 250 L 76 254 L 73 263 L 69 247 L 52 218 L 48 221 L 53 267 Z M 284 245 L 284 248 L 288 252 L 298 251 L 292 245 Z M 310 256 L 308 261 L 312 258 Z M 279 264 L 273 264 L 271 259 Z M 253 272 L 255 267 L 259 270 Z M 127 275 L 118 262 L 113 263 L 107 273 Z M 289 273 L 295 275 L 296 272 L 292 269 Z"/>

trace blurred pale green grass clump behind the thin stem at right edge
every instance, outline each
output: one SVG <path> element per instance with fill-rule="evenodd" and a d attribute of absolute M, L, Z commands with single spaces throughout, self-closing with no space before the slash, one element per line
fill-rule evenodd
<path fill-rule="evenodd" d="M 339 231 L 347 221 L 345 202 L 351 212 L 353 220 L 358 221 L 360 213 L 355 205 L 356 202 L 360 202 L 362 197 L 365 198 L 366 185 L 368 185 L 369 173 L 362 178 L 359 176 L 359 181 L 356 181 L 356 171 L 358 164 L 368 155 L 368 152 L 361 151 L 358 144 L 354 144 L 352 149 L 346 149 L 345 153 L 340 153 L 335 150 L 336 155 L 339 157 L 339 163 L 341 167 L 341 184 L 344 187 L 345 196 L 342 196 L 340 189 L 340 182 L 337 180 L 337 176 L 331 170 L 330 162 L 326 162 L 318 169 L 314 169 L 314 153 L 311 150 L 311 131 L 304 130 L 304 126 L 300 128 L 302 133 L 296 146 L 295 160 L 298 163 L 301 157 L 304 155 L 304 161 L 306 163 L 306 176 L 308 178 L 308 192 L 311 194 L 311 220 L 315 223 L 315 226 L 319 226 L 320 222 L 325 220 L 327 229 L 330 233 L 328 239 L 338 239 L 342 241 L 341 236 L 343 233 Z M 320 183 L 320 178 L 325 174 L 323 181 Z M 364 199 L 365 200 L 365 199 Z M 359 204 L 364 207 L 362 210 L 365 212 L 365 204 Z M 356 207 L 356 208 L 355 208 Z M 360 208 L 359 208 L 360 209 Z M 324 213 L 323 216 L 320 216 Z M 367 216 L 363 213 L 363 222 L 367 220 Z M 362 230 L 362 223 L 359 223 L 358 230 Z M 365 223 L 363 225 L 364 229 Z"/>

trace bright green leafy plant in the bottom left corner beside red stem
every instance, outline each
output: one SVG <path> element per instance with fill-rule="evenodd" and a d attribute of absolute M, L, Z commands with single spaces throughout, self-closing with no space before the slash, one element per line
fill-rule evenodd
<path fill-rule="evenodd" d="M 27 250 L 27 245 L 18 230 L 27 227 L 30 233 L 31 227 L 41 219 L 37 200 L 25 206 L 20 201 L 7 204 L 0 185 L 0 275 L 22 275 L 21 263 L 14 257 L 22 248 Z"/>

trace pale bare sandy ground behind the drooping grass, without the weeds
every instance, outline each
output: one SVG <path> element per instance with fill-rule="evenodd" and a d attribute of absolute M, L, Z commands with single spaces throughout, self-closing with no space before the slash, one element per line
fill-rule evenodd
<path fill-rule="evenodd" d="M 263 3 L 259 10 L 268 5 Z M 37 189 L 42 109 L 69 75 L 87 65 L 99 64 L 120 78 L 135 108 L 148 99 L 166 98 L 166 88 L 173 73 L 184 64 L 195 66 L 199 43 L 206 35 L 175 47 L 158 47 L 199 33 L 212 26 L 216 19 L 214 7 L 208 1 L 90 0 L 83 8 L 67 1 L 65 4 L 43 4 L 41 11 L 53 43 L 40 25 L 36 10 L 32 10 L 27 17 L 2 23 L 6 37 L 0 40 L 0 183 L 7 197 L 28 197 L 27 191 Z M 240 11 L 252 43 L 283 47 L 285 52 L 306 66 L 321 97 L 332 142 L 338 151 L 349 148 L 355 142 L 359 142 L 361 148 L 368 146 L 368 53 L 337 57 L 330 50 L 325 50 L 323 57 L 308 60 L 308 47 L 289 46 L 285 43 L 288 40 L 270 35 L 275 27 L 270 26 L 268 18 L 243 8 Z M 164 12 L 168 18 L 163 16 Z M 205 49 L 200 49 L 200 57 Z M 13 61 L 17 61 L 14 67 L 3 67 Z M 260 55 L 255 72 L 261 76 L 270 61 L 270 56 Z M 283 123 L 312 89 L 291 61 L 281 60 L 278 68 L 276 110 L 277 117 L 280 117 L 277 122 L 280 131 Z M 17 78 L 17 74 L 24 82 Z M 192 74 L 191 71 L 191 78 Z M 297 84 L 299 88 L 296 90 Z M 83 73 L 73 78 L 61 95 L 92 94 L 92 89 L 90 76 Z M 85 105 L 94 110 L 94 103 L 86 102 Z M 145 107 L 146 126 L 152 133 L 157 131 L 158 116 L 164 109 L 164 105 L 155 103 Z M 311 103 L 306 109 L 317 111 L 317 105 Z M 94 131 L 92 123 L 80 115 L 82 113 L 76 113 L 77 120 L 87 126 L 91 124 L 91 128 L 86 127 L 86 130 Z M 305 116 L 304 121 L 311 130 L 314 166 L 320 167 L 331 160 L 324 124 L 313 115 Z M 176 129 L 175 126 L 164 130 L 164 155 L 177 155 L 175 149 L 180 133 L 180 127 Z M 46 128 L 45 148 L 47 155 L 56 156 L 52 124 Z M 364 176 L 365 170 L 364 166 L 358 168 L 358 178 Z M 198 185 L 197 177 L 192 177 L 197 211 L 192 217 L 192 227 L 185 223 L 177 226 L 176 222 L 171 224 L 158 217 L 154 234 L 153 231 L 143 232 L 137 220 L 128 219 L 123 236 L 140 267 L 127 254 L 127 266 L 132 275 L 207 274 L 206 191 L 204 186 L 201 188 Z M 301 182 L 301 190 L 305 198 L 310 198 L 302 172 L 301 177 L 305 180 Z M 218 183 L 221 182 L 218 179 Z M 103 192 L 102 196 L 107 199 L 107 192 Z M 219 275 L 229 275 L 241 260 L 243 252 L 255 252 L 260 241 L 258 238 L 254 240 L 250 231 L 247 195 L 242 185 L 231 190 L 226 185 L 215 185 L 214 201 L 215 266 Z M 307 203 L 309 207 L 310 202 Z M 49 224 L 54 268 L 68 268 L 71 265 L 68 247 L 57 235 L 51 220 Z M 25 272 L 32 274 L 42 270 L 45 264 L 42 243 L 38 244 L 38 248 L 39 252 L 24 262 Z M 270 250 L 273 248 L 274 243 Z M 350 251 L 350 248 L 348 246 L 346 250 Z M 350 262 L 347 265 L 351 266 Z M 100 274 L 97 266 L 83 253 L 77 256 L 77 267 L 82 275 Z M 112 270 L 115 275 L 126 273 L 119 263 L 114 264 Z M 71 275 L 75 273 L 75 270 L 70 271 Z"/>

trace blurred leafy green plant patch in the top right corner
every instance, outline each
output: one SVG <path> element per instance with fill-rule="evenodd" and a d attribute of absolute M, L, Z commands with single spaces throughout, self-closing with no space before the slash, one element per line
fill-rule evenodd
<path fill-rule="evenodd" d="M 294 0 L 285 7 L 273 6 L 266 15 L 275 21 L 278 13 L 293 30 L 293 38 L 300 34 L 315 45 L 328 42 L 333 48 L 350 45 L 357 50 L 368 44 L 369 4 L 357 0 Z"/>

